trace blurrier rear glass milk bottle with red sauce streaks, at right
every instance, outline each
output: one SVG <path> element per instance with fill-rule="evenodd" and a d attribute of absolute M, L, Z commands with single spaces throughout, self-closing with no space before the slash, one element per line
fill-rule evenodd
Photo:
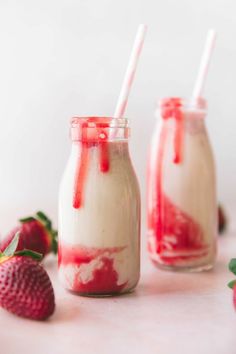
<path fill-rule="evenodd" d="M 201 271 L 216 254 L 215 166 L 206 105 L 160 102 L 148 165 L 148 252 L 159 267 Z"/>

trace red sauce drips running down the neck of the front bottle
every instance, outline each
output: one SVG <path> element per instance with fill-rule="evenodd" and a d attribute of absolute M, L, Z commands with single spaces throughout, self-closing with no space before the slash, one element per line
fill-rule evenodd
<path fill-rule="evenodd" d="M 84 189 L 89 168 L 90 148 L 99 149 L 99 168 L 102 173 L 107 173 L 110 168 L 108 128 L 110 118 L 73 118 L 77 123 L 75 129 L 79 130 L 78 142 L 81 144 L 81 153 L 75 173 L 73 207 L 79 209 L 84 203 Z"/>

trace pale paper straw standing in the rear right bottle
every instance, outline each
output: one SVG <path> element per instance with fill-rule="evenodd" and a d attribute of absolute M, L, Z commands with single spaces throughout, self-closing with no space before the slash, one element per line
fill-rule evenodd
<path fill-rule="evenodd" d="M 192 93 L 192 102 L 196 102 L 201 96 L 206 82 L 210 60 L 216 40 L 216 31 L 211 29 L 207 33 L 205 48 L 202 54 L 198 76 Z"/>

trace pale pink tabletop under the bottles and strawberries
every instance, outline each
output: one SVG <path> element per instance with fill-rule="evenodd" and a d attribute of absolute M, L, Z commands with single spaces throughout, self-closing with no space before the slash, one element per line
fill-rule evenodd
<path fill-rule="evenodd" d="M 0 310 L 0 354 L 235 354 L 236 313 L 227 270 L 236 235 L 219 240 L 214 270 L 187 274 L 153 267 L 143 249 L 136 291 L 113 298 L 72 295 L 60 286 L 56 259 L 45 267 L 56 293 L 55 314 L 34 322 Z"/>

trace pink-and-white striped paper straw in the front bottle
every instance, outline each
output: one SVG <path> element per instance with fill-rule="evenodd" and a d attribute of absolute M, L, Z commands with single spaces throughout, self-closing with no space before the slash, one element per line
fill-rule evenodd
<path fill-rule="evenodd" d="M 146 30 L 147 30 L 146 25 L 143 24 L 139 25 L 136 38 L 134 41 L 134 46 L 130 55 L 129 63 L 126 69 L 124 81 L 121 87 L 118 102 L 116 105 L 116 109 L 114 113 L 115 118 L 121 118 L 124 116 L 130 89 L 134 80 L 134 75 L 136 72 L 138 60 L 140 57 L 140 53 L 142 51 Z"/>

